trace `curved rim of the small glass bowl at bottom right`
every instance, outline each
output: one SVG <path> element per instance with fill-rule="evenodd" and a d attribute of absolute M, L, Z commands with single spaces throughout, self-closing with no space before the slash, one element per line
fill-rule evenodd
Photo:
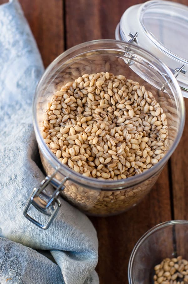
<path fill-rule="evenodd" d="M 188 226 L 188 221 L 187 220 L 170 220 L 170 221 L 166 221 L 163 223 L 160 223 L 154 227 L 152 227 L 151 229 L 149 229 L 147 232 L 144 233 L 144 235 L 138 240 L 138 242 L 135 244 L 130 259 L 129 259 L 129 263 L 128 263 L 128 282 L 129 284 L 133 284 L 133 262 L 134 262 L 134 258 L 135 255 L 138 251 L 138 248 L 141 246 L 141 244 L 151 235 L 153 234 L 155 231 L 160 230 L 161 228 L 165 228 L 168 226 L 174 226 L 174 225 L 186 225 Z"/>

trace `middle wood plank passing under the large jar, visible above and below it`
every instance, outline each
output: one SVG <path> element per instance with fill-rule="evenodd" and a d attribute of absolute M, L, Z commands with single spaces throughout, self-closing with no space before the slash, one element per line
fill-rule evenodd
<path fill-rule="evenodd" d="M 65 1 L 66 47 L 94 39 L 115 38 L 121 15 L 135 3 L 138 2 Z M 127 284 L 128 260 L 138 239 L 152 226 L 171 219 L 168 166 L 137 207 L 120 215 L 90 219 L 99 239 L 97 272 L 100 283 Z"/>

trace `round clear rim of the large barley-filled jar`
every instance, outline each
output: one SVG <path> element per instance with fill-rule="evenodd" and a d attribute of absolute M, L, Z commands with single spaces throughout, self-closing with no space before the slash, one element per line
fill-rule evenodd
<path fill-rule="evenodd" d="M 62 163 L 60 163 L 60 161 L 56 158 L 56 156 L 50 151 L 50 149 L 46 146 L 46 143 L 44 142 L 44 138 L 41 135 L 41 132 L 39 130 L 39 125 L 37 123 L 37 98 L 38 98 L 38 91 L 40 89 L 40 87 L 42 86 L 43 82 L 45 81 L 47 75 L 50 73 L 50 71 L 54 68 L 54 66 L 64 57 L 66 57 L 67 55 L 70 55 L 72 52 L 75 52 L 77 50 L 79 50 L 82 47 L 95 47 L 95 45 L 97 44 L 121 44 L 121 46 L 123 45 L 124 47 L 130 47 L 132 50 L 136 50 L 136 51 L 142 51 L 144 54 L 150 56 L 151 58 L 154 58 L 162 67 L 163 69 L 166 71 L 166 73 L 170 76 L 171 79 L 171 84 L 174 84 L 175 89 L 177 91 L 177 97 L 179 99 L 180 102 L 180 127 L 178 129 L 178 133 L 176 135 L 175 140 L 173 141 L 170 149 L 168 150 L 168 152 L 165 154 L 165 156 L 155 165 L 153 165 L 150 169 L 148 169 L 147 171 L 144 171 L 144 173 L 141 173 L 139 175 L 134 175 L 131 177 L 128 177 L 127 179 L 121 179 L 121 180 L 117 180 L 117 181 L 103 181 L 103 180 L 98 180 L 92 177 L 86 177 L 86 176 L 82 176 L 79 173 L 74 172 L 72 169 L 70 169 L 69 167 L 63 165 Z M 88 49 L 88 51 L 91 51 L 91 48 Z M 77 54 L 79 55 L 79 53 Z M 34 95 L 34 99 L 33 99 L 33 125 L 34 125 L 34 131 L 35 131 L 35 136 L 37 139 L 37 142 L 39 143 L 40 148 L 43 150 L 43 152 L 46 155 L 46 158 L 50 159 L 53 164 L 55 164 L 55 168 L 60 170 L 66 170 L 66 172 L 68 172 L 70 180 L 75 181 L 76 183 L 79 184 L 85 184 L 87 182 L 87 185 L 91 186 L 93 189 L 101 189 L 102 187 L 107 187 L 105 188 L 105 190 L 112 190 L 113 187 L 117 188 L 117 189 L 125 189 L 125 188 L 129 188 L 131 186 L 136 186 L 137 184 L 141 183 L 142 181 L 145 181 L 147 179 L 149 179 L 151 176 L 153 176 L 157 171 L 159 171 L 160 169 L 162 169 L 162 167 L 165 165 L 165 163 L 168 161 L 168 159 L 170 158 L 170 156 L 172 155 L 172 153 L 174 152 L 175 148 L 177 147 L 182 132 L 183 132 L 183 128 L 184 128 L 184 123 L 185 123 L 185 104 L 184 104 L 184 99 L 182 97 L 182 93 L 180 90 L 180 86 L 178 85 L 178 82 L 176 81 L 174 75 L 172 74 L 172 72 L 170 71 L 170 69 L 158 58 L 156 58 L 153 54 L 149 53 L 148 51 L 144 50 L 141 47 L 138 46 L 134 46 L 133 44 L 129 44 L 129 43 L 125 43 L 123 41 L 117 41 L 117 40 L 111 40 L 111 39 L 104 39 L 104 40 L 94 40 L 94 41 L 89 41 L 89 42 L 84 42 L 81 44 L 78 44 L 74 47 L 69 48 L 68 50 L 66 50 L 65 52 L 63 52 L 62 54 L 60 54 L 57 58 L 55 58 L 55 60 L 47 67 L 47 69 L 45 70 L 44 74 L 42 75 L 36 91 L 35 91 L 35 95 Z"/>

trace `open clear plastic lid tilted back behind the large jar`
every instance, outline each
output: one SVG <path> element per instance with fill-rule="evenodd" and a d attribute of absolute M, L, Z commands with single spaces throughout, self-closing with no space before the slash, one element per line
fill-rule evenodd
<path fill-rule="evenodd" d="M 128 42 L 136 32 L 135 44 L 161 59 L 188 97 L 188 7 L 161 0 L 131 6 L 121 17 L 116 39 Z"/>

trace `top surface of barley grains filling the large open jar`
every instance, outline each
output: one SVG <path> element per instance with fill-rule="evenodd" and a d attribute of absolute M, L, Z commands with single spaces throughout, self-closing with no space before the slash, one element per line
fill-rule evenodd
<path fill-rule="evenodd" d="M 99 179 L 140 174 L 168 145 L 166 115 L 153 94 L 108 72 L 59 84 L 43 125 L 44 141 L 62 164 Z"/>

